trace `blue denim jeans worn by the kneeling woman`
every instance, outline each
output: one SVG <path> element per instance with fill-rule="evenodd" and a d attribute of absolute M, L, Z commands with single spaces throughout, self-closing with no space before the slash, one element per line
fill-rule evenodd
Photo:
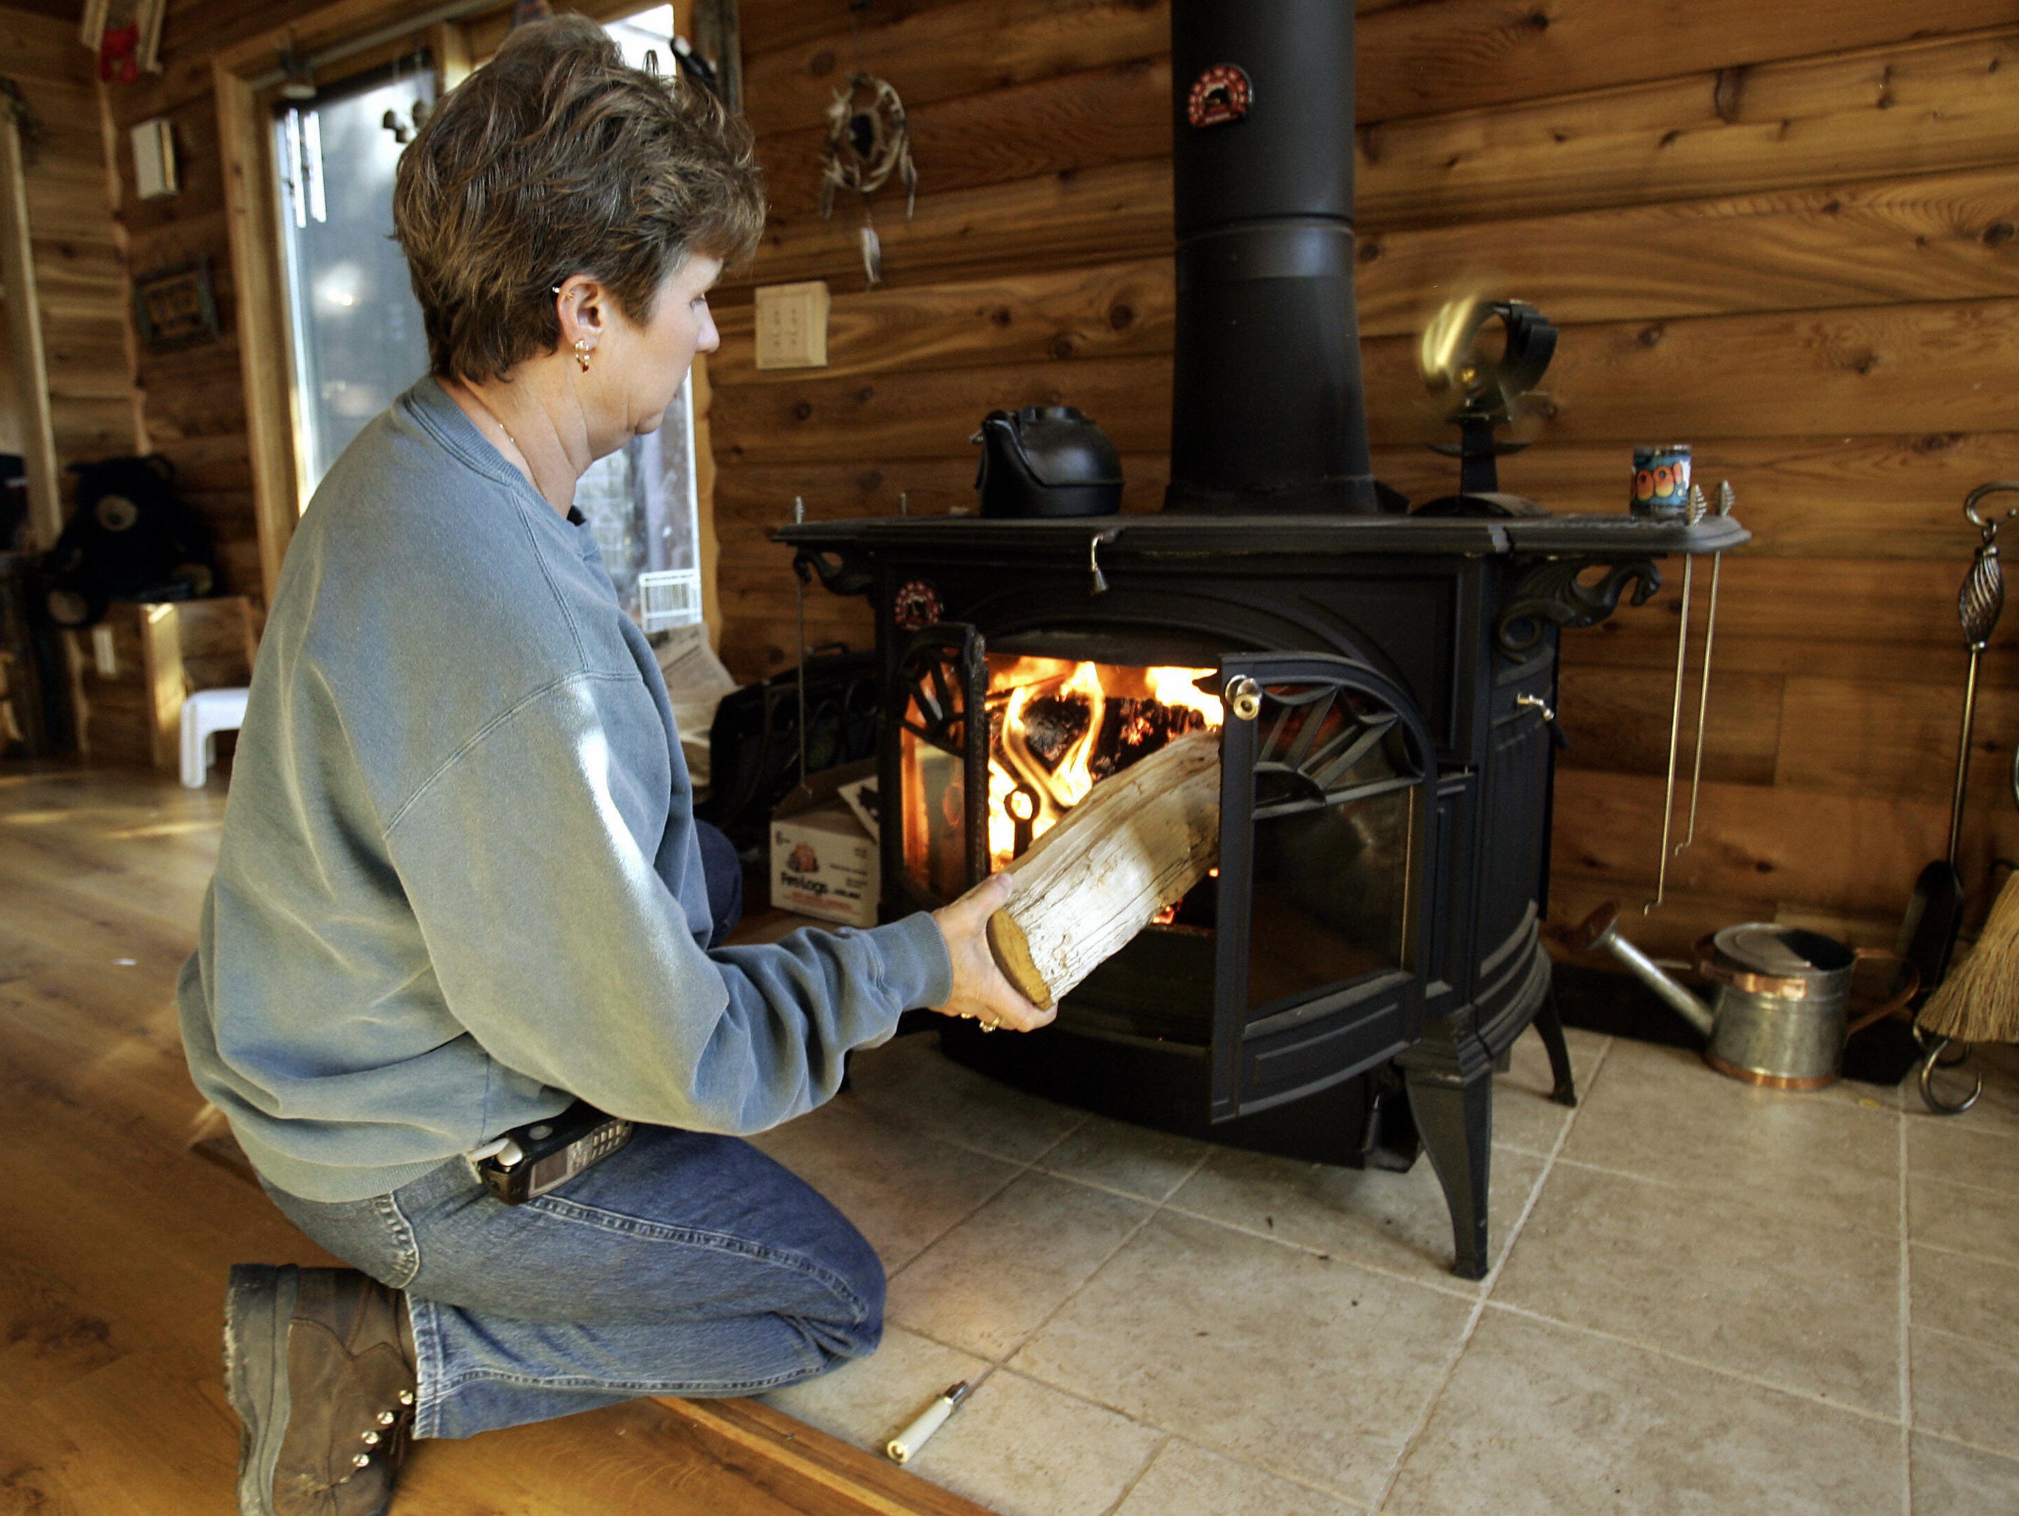
<path fill-rule="evenodd" d="M 525 1205 L 491 1199 L 466 1159 L 341 1205 L 267 1193 L 337 1258 L 406 1290 L 418 1437 L 636 1395 L 753 1395 L 882 1336 L 876 1254 L 735 1136 L 640 1126 Z"/>

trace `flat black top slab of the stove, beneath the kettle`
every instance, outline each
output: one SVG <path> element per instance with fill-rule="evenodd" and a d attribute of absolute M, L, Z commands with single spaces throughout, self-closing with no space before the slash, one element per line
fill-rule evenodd
<path fill-rule="evenodd" d="M 858 517 L 779 527 L 771 539 L 789 547 L 858 551 L 935 551 L 1072 557 L 1084 561 L 1100 541 L 1100 561 L 1129 557 L 1278 557 L 1278 555 L 1438 555 L 1438 557 L 1702 557 L 1752 541 L 1732 517 L 1652 521 L 1631 515 L 1431 519 L 1310 515 L 1123 515 L 1060 519 Z"/>

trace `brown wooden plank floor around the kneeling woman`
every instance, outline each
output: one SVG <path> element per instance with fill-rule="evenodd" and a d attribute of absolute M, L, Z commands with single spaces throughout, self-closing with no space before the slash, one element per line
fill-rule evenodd
<path fill-rule="evenodd" d="M 174 983 L 224 781 L 0 765 L 0 1512 L 216 1516 L 234 1262 L 325 1264 L 188 1151 Z M 418 1443 L 394 1516 L 975 1512 L 747 1401 Z"/>

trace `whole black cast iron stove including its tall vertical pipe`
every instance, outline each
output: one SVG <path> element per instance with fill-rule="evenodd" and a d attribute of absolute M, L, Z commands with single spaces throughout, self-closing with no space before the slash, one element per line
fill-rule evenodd
<path fill-rule="evenodd" d="M 945 1050 L 1221 1143 L 1379 1167 L 1427 1149 L 1456 1272 L 1480 1278 L 1490 1074 L 1530 1021 L 1575 1100 L 1538 937 L 1559 634 L 1643 604 L 1654 559 L 1746 531 L 1492 493 L 1395 509 L 1353 317 L 1353 10 L 1175 0 L 1171 28 L 1165 513 L 777 539 L 876 610 L 888 916 L 1010 864 L 1104 773 L 1221 731 L 1215 876 L 1052 1027 L 949 1025 Z"/>

